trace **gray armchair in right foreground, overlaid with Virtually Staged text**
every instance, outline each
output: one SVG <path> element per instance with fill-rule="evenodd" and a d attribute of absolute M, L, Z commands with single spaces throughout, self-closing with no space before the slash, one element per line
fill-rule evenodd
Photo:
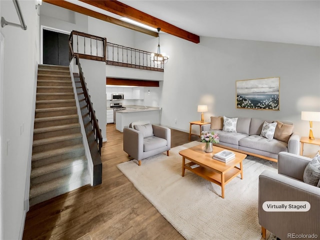
<path fill-rule="evenodd" d="M 278 154 L 278 173 L 263 171 L 259 175 L 258 212 L 262 237 L 266 229 L 281 240 L 292 234 L 320 237 L 320 188 L 303 182 L 303 172 L 311 159 L 288 152 Z M 308 211 L 264 211 L 265 201 L 307 201 Z M 310 237 L 308 237 L 310 238 Z"/>

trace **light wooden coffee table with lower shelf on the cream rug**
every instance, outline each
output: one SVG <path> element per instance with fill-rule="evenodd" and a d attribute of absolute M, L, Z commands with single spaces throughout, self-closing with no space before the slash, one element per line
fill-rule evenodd
<path fill-rule="evenodd" d="M 213 154 L 224 150 L 224 148 L 213 146 L 213 152 L 206 153 L 204 145 L 205 143 L 179 151 L 179 154 L 182 156 L 182 176 L 184 176 L 184 170 L 188 169 L 212 181 L 221 186 L 221 197 L 224 198 L 224 185 L 238 174 L 241 174 L 241 179 L 243 179 L 242 160 L 246 157 L 246 154 L 234 151 L 235 158 L 224 163 L 212 158 Z M 185 159 L 190 160 L 190 162 L 185 163 Z M 191 165 L 194 164 L 198 164 L 199 166 L 191 168 Z M 237 166 L 238 164 L 239 167 Z"/>

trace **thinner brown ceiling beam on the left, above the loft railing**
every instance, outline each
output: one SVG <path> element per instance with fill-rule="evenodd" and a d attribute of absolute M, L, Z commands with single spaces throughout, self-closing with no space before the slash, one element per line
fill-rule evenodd
<path fill-rule="evenodd" d="M 70 3 L 68 1 L 64 1 L 64 0 L 43 0 L 43 1 L 50 3 L 50 4 L 53 4 L 53 5 L 56 5 L 56 6 L 60 6 L 60 7 L 69 9 L 71 11 L 76 11 L 78 13 L 81 13 L 81 14 L 84 14 L 87 16 L 91 16 L 91 17 L 94 17 L 94 18 L 97 18 L 97 19 L 100 19 L 103 21 L 107 21 L 107 22 L 110 22 L 110 23 L 113 23 L 113 24 L 116 24 L 119 26 L 123 26 L 123 27 L 129 28 L 129 29 L 135 30 L 135 31 L 139 31 L 139 32 L 151 35 L 151 36 L 155 36 L 155 37 L 158 36 L 157 32 L 145 29 L 143 27 L 140 27 L 140 26 L 137 26 L 137 25 L 125 22 L 125 21 L 121 21 L 121 20 L 116 19 L 114 17 L 104 15 L 102 13 L 87 9 L 85 7 L 82 7 L 82 6 L 73 4 L 73 3 Z"/>

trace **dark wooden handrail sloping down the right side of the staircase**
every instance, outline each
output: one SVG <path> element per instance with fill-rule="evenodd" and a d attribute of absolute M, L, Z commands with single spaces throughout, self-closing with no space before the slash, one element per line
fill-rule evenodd
<path fill-rule="evenodd" d="M 90 122 L 92 124 L 93 133 L 94 133 L 97 145 L 98 145 L 98 151 L 99 151 L 99 153 L 101 155 L 101 148 L 102 148 L 101 129 L 99 127 L 98 120 L 96 119 L 96 116 L 95 116 L 95 113 L 94 113 L 94 110 L 93 110 L 93 106 L 92 106 L 92 102 L 91 102 L 91 99 L 90 99 L 90 95 L 88 93 L 88 89 L 86 88 L 86 84 L 85 84 L 85 80 L 84 80 L 81 64 L 79 62 L 79 55 L 77 53 L 73 52 L 72 32 L 71 32 L 71 34 L 69 36 L 69 50 L 70 50 L 70 57 L 75 57 L 76 64 L 78 65 L 78 68 L 79 68 L 79 78 L 80 78 L 80 82 L 81 82 L 81 86 L 82 86 L 82 90 L 83 90 L 83 94 L 84 94 L 84 99 L 85 99 L 86 106 L 87 106 L 88 111 L 89 111 Z"/>

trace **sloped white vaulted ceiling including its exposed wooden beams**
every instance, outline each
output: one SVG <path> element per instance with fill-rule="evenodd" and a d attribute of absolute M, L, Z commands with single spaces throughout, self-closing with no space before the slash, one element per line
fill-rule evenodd
<path fill-rule="evenodd" d="M 62 7 L 69 4 L 68 9 L 70 4 L 93 6 L 95 10 L 86 10 L 95 12 L 93 17 L 121 25 L 119 18 L 125 16 L 195 43 L 199 36 L 210 36 L 320 46 L 319 0 L 43 1 Z M 156 35 L 144 28 L 134 30 Z"/>

